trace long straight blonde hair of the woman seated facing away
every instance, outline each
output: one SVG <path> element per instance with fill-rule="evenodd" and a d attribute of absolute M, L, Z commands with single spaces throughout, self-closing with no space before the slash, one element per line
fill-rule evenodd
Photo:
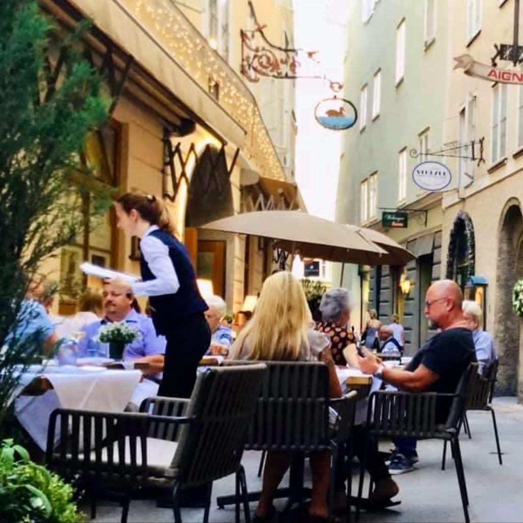
<path fill-rule="evenodd" d="M 236 339 L 236 357 L 298 360 L 309 350 L 307 331 L 311 324 L 300 281 L 291 272 L 277 272 L 264 281 L 253 317 Z"/>

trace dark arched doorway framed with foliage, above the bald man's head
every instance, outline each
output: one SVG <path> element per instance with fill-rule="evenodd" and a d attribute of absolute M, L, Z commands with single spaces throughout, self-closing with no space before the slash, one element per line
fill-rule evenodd
<path fill-rule="evenodd" d="M 446 277 L 464 289 L 467 278 L 474 274 L 475 264 L 474 225 L 467 212 L 459 211 L 450 231 Z"/>

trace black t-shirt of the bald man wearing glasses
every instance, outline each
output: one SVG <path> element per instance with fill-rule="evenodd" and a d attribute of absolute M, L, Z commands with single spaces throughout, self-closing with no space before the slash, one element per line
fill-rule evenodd
<path fill-rule="evenodd" d="M 414 372 L 420 364 L 439 379 L 424 392 L 453 394 L 469 364 L 476 361 L 472 331 L 468 328 L 451 328 L 431 338 L 408 363 L 406 370 Z M 445 423 L 452 399 L 440 398 L 436 405 L 436 422 Z"/>

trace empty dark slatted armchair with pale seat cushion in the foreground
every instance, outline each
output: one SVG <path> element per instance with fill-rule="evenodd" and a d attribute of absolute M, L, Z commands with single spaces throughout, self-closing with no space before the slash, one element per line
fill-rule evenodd
<path fill-rule="evenodd" d="M 92 499 L 92 518 L 97 498 L 115 494 L 123 523 L 131 499 L 144 487 L 170 491 L 174 519 L 181 521 L 180 490 L 200 485 L 209 485 L 207 522 L 212 482 L 236 473 L 236 521 L 240 492 L 249 521 L 240 462 L 266 372 L 263 363 L 208 369 L 199 374 L 190 400 L 151 398 L 144 404 L 151 413 L 57 409 L 49 424 L 47 464 L 65 477 L 79 474 L 80 486 Z M 57 427 L 60 442 L 55 447 Z"/>

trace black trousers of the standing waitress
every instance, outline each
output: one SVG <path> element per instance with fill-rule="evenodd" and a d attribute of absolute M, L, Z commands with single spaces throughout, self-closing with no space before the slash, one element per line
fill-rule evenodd
<path fill-rule="evenodd" d="M 163 379 L 158 396 L 190 397 L 196 382 L 196 370 L 209 349 L 211 330 L 203 313 L 173 321 L 165 335 Z"/>

